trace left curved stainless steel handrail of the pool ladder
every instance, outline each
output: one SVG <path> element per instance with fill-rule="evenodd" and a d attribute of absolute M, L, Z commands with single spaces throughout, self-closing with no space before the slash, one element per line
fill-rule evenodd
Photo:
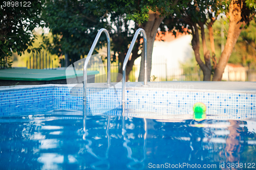
<path fill-rule="evenodd" d="M 107 50 L 107 60 L 108 60 L 108 64 L 107 64 L 107 84 L 106 85 L 110 85 L 111 84 L 111 78 L 110 78 L 110 34 L 108 32 L 108 30 L 106 29 L 100 29 L 98 34 L 96 35 L 92 47 L 88 53 L 88 56 L 86 58 L 86 61 L 84 62 L 83 65 L 83 107 L 84 109 L 86 109 L 86 86 L 87 86 L 87 65 L 89 63 L 90 58 L 92 57 L 94 48 L 99 40 L 99 37 L 101 35 L 101 33 L 104 32 L 106 34 L 106 43 L 108 45 L 108 50 Z"/>

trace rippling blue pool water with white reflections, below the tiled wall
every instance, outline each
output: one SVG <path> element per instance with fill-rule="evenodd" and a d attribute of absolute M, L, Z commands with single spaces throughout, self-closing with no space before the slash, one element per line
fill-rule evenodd
<path fill-rule="evenodd" d="M 255 118 L 2 116 L 0 169 L 255 169 L 255 132 Z"/>

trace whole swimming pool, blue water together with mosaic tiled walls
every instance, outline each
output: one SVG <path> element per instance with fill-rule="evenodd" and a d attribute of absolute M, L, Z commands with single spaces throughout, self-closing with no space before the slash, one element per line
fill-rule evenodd
<path fill-rule="evenodd" d="M 121 116 L 120 86 L 92 86 L 86 119 L 79 86 L 2 88 L 0 168 L 256 167 L 253 90 L 154 84 L 145 90 L 127 84 L 127 110 Z M 200 122 L 191 110 L 196 102 L 207 106 L 206 119 Z"/>

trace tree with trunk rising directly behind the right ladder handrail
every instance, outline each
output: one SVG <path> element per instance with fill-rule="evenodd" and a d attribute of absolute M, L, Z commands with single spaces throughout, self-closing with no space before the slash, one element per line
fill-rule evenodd
<path fill-rule="evenodd" d="M 152 52 L 155 37 L 163 19 L 173 14 L 178 0 L 168 1 L 124 1 L 111 2 L 112 12 L 119 12 L 126 19 L 135 21 L 139 28 L 143 28 L 147 36 L 147 80 L 150 81 L 152 67 Z M 134 55 L 134 54 L 133 54 Z M 137 54 L 135 54 L 137 55 Z M 139 81 L 143 81 L 144 56 L 141 53 Z"/>

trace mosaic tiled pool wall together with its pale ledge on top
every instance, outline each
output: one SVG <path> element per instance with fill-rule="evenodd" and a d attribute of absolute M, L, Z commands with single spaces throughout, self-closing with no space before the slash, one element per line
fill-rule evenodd
<path fill-rule="evenodd" d="M 255 113 L 255 82 L 148 83 L 149 88 L 141 87 L 140 82 L 126 83 L 127 109 L 154 112 L 154 115 L 190 114 L 196 102 L 203 102 L 208 113 L 221 113 L 228 118 L 251 118 Z M 114 87 L 89 83 L 87 95 L 88 110 L 122 108 L 121 83 Z M 83 108 L 81 84 L 2 87 L 0 96 L 0 115 Z"/>

